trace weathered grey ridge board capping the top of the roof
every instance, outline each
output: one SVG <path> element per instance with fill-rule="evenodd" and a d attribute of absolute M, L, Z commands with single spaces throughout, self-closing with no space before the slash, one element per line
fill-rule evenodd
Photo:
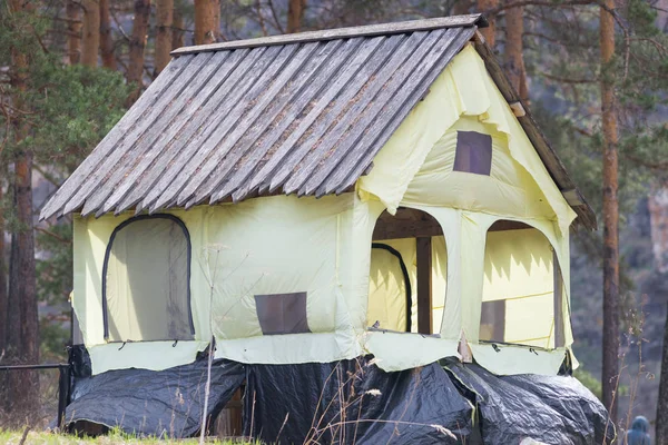
<path fill-rule="evenodd" d="M 222 51 L 229 49 L 269 47 L 276 44 L 304 43 L 312 41 L 326 41 L 335 39 L 347 39 L 352 37 L 390 36 L 404 32 L 428 31 L 439 28 L 461 27 L 485 28 L 488 21 L 481 13 L 466 16 L 439 17 L 434 19 L 409 20 L 391 23 L 367 24 L 362 27 L 336 28 L 323 31 L 307 31 L 293 34 L 278 34 L 261 37 L 256 39 L 233 40 L 220 43 L 198 44 L 183 47 L 171 51 L 171 56 Z"/>

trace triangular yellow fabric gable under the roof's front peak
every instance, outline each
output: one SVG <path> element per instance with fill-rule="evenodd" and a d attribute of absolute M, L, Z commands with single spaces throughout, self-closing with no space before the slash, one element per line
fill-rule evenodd
<path fill-rule="evenodd" d="M 438 189 L 432 192 L 425 190 L 423 200 L 415 202 L 420 198 L 416 196 L 415 188 L 410 189 L 410 185 L 414 178 L 422 179 L 420 171 L 425 161 L 428 166 L 431 162 L 430 152 L 436 147 L 433 156 L 439 155 L 439 141 L 444 137 L 448 139 L 449 131 L 452 136 L 452 131 L 456 129 L 453 126 L 460 120 L 460 117 L 469 117 L 462 119 L 463 123 L 460 123 L 464 129 L 466 126 L 475 125 L 485 127 L 487 131 L 481 131 L 492 134 L 498 141 L 502 141 L 502 144 L 498 144 L 500 150 L 503 150 L 504 148 L 501 146 L 507 144 L 508 157 L 528 174 L 527 177 L 521 171 L 517 171 L 517 168 L 512 168 L 511 170 L 515 170 L 514 180 L 518 184 L 508 185 L 521 188 L 525 196 L 534 200 L 544 196 L 547 204 L 543 206 L 536 202 L 528 206 L 523 214 L 513 211 L 513 206 L 517 209 L 518 205 L 510 201 L 508 201 L 510 210 L 505 211 L 503 208 L 491 205 L 484 207 L 484 204 L 481 202 L 471 209 L 522 218 L 554 219 L 558 221 L 560 231 L 566 234 L 576 214 L 550 177 L 510 106 L 488 75 L 482 58 L 472 46 L 464 48 L 452 60 L 432 85 L 426 98 L 402 122 L 374 158 L 373 170 L 369 176 L 361 178 L 357 184 L 361 195 L 367 198 L 377 197 L 391 211 L 400 206 L 404 197 L 412 200 L 413 204 L 435 204 L 429 202 L 429 199 L 433 199 L 433 194 L 438 194 Z M 466 121 L 469 123 L 465 123 Z M 505 139 L 507 142 L 502 139 Z M 422 171 L 423 174 L 424 171 Z M 472 182 L 477 182 L 477 179 L 473 178 Z M 478 191 L 484 194 L 488 190 Z M 443 205 L 444 202 L 439 204 Z M 498 202 L 494 204 L 498 205 Z"/>

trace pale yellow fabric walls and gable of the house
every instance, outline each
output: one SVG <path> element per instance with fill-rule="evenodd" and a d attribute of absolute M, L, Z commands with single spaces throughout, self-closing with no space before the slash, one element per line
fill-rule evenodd
<path fill-rule="evenodd" d="M 490 176 L 452 171 L 462 130 L 490 135 Z M 367 330 L 370 322 L 381 317 L 383 324 L 399 328 L 397 313 L 405 313 L 399 280 L 392 277 L 396 269 L 387 270 L 390 266 L 383 264 L 387 260 L 371 249 L 376 219 L 383 210 L 393 212 L 400 206 L 429 212 L 443 229 L 443 237 L 432 239 L 436 336 Z M 570 354 L 568 228 L 574 214 L 472 47 L 464 48 L 441 73 L 376 156 L 356 192 L 321 199 L 273 196 L 166 214 L 187 227 L 193 253 L 189 286 L 195 336 L 174 347 L 173 342 L 139 339 L 120 348 L 105 339 L 105 251 L 114 229 L 132 215 L 75 218 L 72 305 L 94 374 L 185 364 L 212 337 L 216 357 L 243 363 L 333 362 L 374 354 L 385 370 L 459 356 L 463 338 L 478 363 L 497 374 L 554 374 Z M 488 237 L 490 226 L 500 219 L 525 222 L 540 234 L 522 236 L 527 235 L 520 234 L 523 230 L 513 230 L 517 234 Z M 414 241 L 390 244 L 402 253 L 414 281 Z M 554 265 L 546 259 L 550 249 L 563 276 L 560 309 L 567 323 L 564 346 L 558 348 L 550 340 L 553 334 L 546 334 L 554 318 L 554 306 L 549 304 L 553 301 Z M 377 298 L 383 286 L 392 288 L 389 301 Z M 533 294 L 540 296 L 529 297 Z M 298 309 L 305 314 L 307 332 L 265 333 L 261 317 L 274 313 L 262 310 L 258 296 L 302 301 L 304 307 Z M 498 298 L 515 301 L 507 307 L 504 334 L 521 343 L 540 338 L 531 343 L 533 352 L 503 346 L 497 353 L 481 342 L 482 305 Z M 281 310 L 278 322 L 289 318 Z M 415 308 L 412 314 L 415 317 Z M 145 322 L 132 314 L 124 323 Z M 141 332 L 140 326 L 134 327 Z M 546 349 L 538 347 L 546 344 Z"/>

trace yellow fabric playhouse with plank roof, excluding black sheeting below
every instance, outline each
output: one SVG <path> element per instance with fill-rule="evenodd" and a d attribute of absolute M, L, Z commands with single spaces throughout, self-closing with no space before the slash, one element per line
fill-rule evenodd
<path fill-rule="evenodd" d="M 45 206 L 92 374 L 446 357 L 557 375 L 578 192 L 480 16 L 174 51 Z M 283 419 L 283 418 L 282 418 Z"/>

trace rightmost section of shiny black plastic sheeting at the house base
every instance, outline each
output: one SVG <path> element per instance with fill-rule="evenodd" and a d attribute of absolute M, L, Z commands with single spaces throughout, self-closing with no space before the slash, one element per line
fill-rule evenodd
<path fill-rule="evenodd" d="M 475 394 L 485 444 L 600 445 L 608 413 L 570 376 L 495 376 L 478 365 L 449 360 L 445 368 Z M 612 438 L 610 426 L 608 439 Z"/>

